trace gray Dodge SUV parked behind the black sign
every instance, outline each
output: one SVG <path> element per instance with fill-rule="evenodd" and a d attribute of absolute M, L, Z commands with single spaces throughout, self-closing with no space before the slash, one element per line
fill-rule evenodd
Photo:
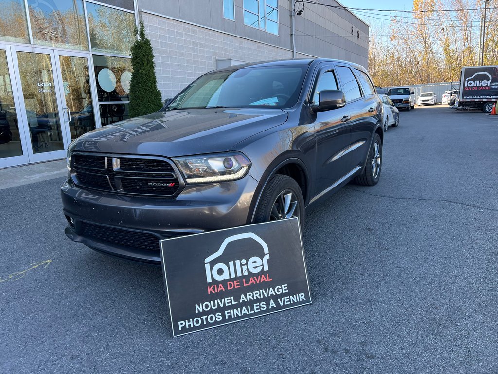
<path fill-rule="evenodd" d="M 68 149 L 66 235 L 160 263 L 159 239 L 298 217 L 382 167 L 382 103 L 365 68 L 301 59 L 211 71 L 160 111 Z"/>

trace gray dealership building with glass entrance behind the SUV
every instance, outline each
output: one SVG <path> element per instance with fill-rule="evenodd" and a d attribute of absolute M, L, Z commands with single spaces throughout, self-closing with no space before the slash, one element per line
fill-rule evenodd
<path fill-rule="evenodd" d="M 0 168 L 65 158 L 80 135 L 128 118 L 140 20 L 163 99 L 245 62 L 326 57 L 367 66 L 368 24 L 337 1 L 316 2 L 0 0 Z"/>

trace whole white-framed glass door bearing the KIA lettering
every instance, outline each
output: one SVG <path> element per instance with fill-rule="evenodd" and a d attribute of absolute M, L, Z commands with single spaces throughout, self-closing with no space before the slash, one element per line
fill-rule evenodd
<path fill-rule="evenodd" d="M 68 146 L 53 50 L 12 47 L 29 161 L 64 158 Z M 64 118 L 62 118 L 64 121 Z"/>

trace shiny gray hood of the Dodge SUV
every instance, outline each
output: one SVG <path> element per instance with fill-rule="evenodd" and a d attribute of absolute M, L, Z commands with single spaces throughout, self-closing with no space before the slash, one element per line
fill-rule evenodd
<path fill-rule="evenodd" d="M 271 108 L 156 112 L 86 133 L 70 149 L 166 157 L 227 152 L 287 117 L 283 110 Z"/>

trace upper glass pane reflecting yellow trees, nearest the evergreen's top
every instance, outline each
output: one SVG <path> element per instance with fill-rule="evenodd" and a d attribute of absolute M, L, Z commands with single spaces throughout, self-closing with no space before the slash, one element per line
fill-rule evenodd
<path fill-rule="evenodd" d="M 128 55 L 135 38 L 135 14 L 87 2 L 92 50 Z"/>

